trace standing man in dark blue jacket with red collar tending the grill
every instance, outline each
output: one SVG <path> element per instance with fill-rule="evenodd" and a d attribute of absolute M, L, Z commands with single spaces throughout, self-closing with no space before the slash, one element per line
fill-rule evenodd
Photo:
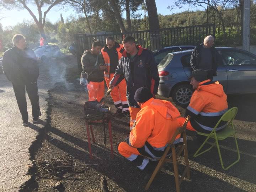
<path fill-rule="evenodd" d="M 141 46 L 136 46 L 133 37 L 123 39 L 124 52 L 118 62 L 116 73 L 110 81 L 110 88 L 123 79 L 127 84 L 127 100 L 130 110 L 130 128 L 132 128 L 137 113 L 140 110 L 134 100 L 134 93 L 140 87 L 148 87 L 153 95 L 158 92 L 159 74 L 153 53 Z"/>

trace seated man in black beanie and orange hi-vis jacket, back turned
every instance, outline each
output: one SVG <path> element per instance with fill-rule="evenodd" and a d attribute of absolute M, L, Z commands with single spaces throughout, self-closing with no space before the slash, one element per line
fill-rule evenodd
<path fill-rule="evenodd" d="M 139 169 L 151 173 L 176 129 L 180 127 L 177 120 L 180 112 L 171 102 L 154 99 L 146 87 L 137 89 L 134 100 L 141 110 L 137 114 L 137 121 L 129 137 L 126 138 L 126 142 L 119 144 L 118 151 Z M 183 142 L 183 138 L 178 135 L 175 144 L 180 142 Z M 143 156 L 156 160 L 150 161 Z"/>

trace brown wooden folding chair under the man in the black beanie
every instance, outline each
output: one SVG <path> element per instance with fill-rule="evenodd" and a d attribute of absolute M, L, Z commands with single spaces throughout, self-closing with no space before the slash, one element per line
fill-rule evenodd
<path fill-rule="evenodd" d="M 164 165 L 165 162 L 172 162 L 174 165 L 174 176 L 175 176 L 175 185 L 176 185 L 176 191 L 180 191 L 180 184 L 184 178 L 184 176 L 186 175 L 186 177 L 189 179 L 190 178 L 190 169 L 189 169 L 189 164 L 188 164 L 188 151 L 187 151 L 187 136 L 186 136 L 186 126 L 188 121 L 190 120 L 190 116 L 187 116 L 185 122 L 183 123 L 182 127 L 178 128 L 171 141 L 169 142 L 167 148 L 164 151 L 164 154 L 162 155 L 162 157 L 159 160 L 158 165 L 156 166 L 153 174 L 151 175 L 145 190 L 148 190 L 151 183 L 153 182 L 156 174 L 158 173 L 159 170 L 161 170 L 162 166 Z M 175 141 L 175 138 L 177 137 L 178 134 L 182 134 L 183 136 L 183 145 L 179 145 L 177 147 L 177 149 L 175 149 L 175 145 L 173 144 Z M 167 156 L 167 154 L 169 153 L 169 150 L 172 150 L 171 156 L 172 156 L 172 160 L 169 159 L 171 156 Z M 177 152 L 176 152 L 177 151 Z M 186 164 L 186 168 L 183 171 L 181 177 L 178 174 L 178 163 L 177 163 L 177 158 L 178 156 L 181 155 L 182 151 L 184 151 L 184 156 L 185 156 L 185 164 Z"/>

